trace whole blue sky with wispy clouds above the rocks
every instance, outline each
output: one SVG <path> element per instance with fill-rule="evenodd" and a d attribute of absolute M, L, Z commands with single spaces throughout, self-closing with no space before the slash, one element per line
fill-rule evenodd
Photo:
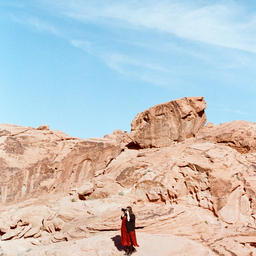
<path fill-rule="evenodd" d="M 0 1 L 0 123 L 103 137 L 192 96 L 256 122 L 255 71 L 254 1 Z"/>

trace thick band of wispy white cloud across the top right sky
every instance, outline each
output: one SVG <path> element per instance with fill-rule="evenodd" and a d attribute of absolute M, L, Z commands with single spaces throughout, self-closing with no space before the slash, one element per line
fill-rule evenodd
<path fill-rule="evenodd" d="M 50 4 L 50 1 L 44 0 Z M 52 2 L 52 1 L 51 1 Z M 57 2 L 57 3 L 56 3 Z M 196 6 L 187 1 L 56 1 L 63 15 L 116 26 L 143 27 L 256 53 L 256 14 L 234 1 Z M 112 21 L 112 22 L 111 22 Z"/>

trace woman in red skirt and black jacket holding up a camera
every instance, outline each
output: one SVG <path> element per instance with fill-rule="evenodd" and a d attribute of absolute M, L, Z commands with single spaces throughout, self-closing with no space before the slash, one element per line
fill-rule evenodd
<path fill-rule="evenodd" d="M 126 253 L 124 255 L 130 256 L 132 254 L 133 246 L 139 246 L 135 234 L 135 215 L 132 213 L 132 207 L 127 207 L 121 216 L 121 244 L 126 246 Z"/>

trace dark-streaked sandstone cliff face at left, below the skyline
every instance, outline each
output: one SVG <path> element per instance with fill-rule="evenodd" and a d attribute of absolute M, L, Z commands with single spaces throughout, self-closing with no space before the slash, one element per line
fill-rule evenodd
<path fill-rule="evenodd" d="M 0 201 L 68 195 L 120 154 L 116 140 L 71 138 L 43 127 L 0 125 Z"/>

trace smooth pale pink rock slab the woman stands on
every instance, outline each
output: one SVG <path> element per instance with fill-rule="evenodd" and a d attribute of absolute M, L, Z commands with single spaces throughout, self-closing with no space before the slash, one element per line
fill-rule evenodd
<path fill-rule="evenodd" d="M 181 236 L 137 232 L 137 240 L 140 245 L 136 248 L 138 256 L 216 256 L 207 247 Z M 175 246 L 173 246 L 174 244 Z M 110 231 L 101 236 L 85 238 L 75 243 L 59 242 L 44 247 L 40 246 L 40 248 L 27 253 L 27 256 L 35 255 L 35 253 L 45 256 L 117 256 L 124 254 L 124 249 L 125 246 L 121 245 L 120 232 Z"/>

